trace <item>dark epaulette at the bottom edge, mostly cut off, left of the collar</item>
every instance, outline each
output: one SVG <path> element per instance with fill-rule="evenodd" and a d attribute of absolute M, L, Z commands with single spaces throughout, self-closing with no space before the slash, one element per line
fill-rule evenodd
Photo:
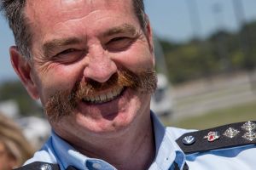
<path fill-rule="evenodd" d="M 42 161 L 34 161 L 30 164 L 27 164 L 23 167 L 15 168 L 14 170 L 60 170 L 58 164 L 52 164 Z M 67 167 L 67 170 L 77 170 L 76 168 L 69 166 Z"/>

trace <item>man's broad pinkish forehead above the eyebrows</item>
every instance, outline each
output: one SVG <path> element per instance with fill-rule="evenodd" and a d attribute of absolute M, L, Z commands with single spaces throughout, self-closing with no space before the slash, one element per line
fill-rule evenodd
<path fill-rule="evenodd" d="M 98 36 L 113 26 L 138 25 L 133 0 L 27 0 L 32 48 L 53 38 Z"/>

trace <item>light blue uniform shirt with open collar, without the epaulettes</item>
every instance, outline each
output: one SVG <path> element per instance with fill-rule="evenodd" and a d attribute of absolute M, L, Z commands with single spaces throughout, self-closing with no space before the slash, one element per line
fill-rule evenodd
<path fill-rule="evenodd" d="M 156 156 L 149 170 L 173 170 L 175 161 L 181 169 L 186 162 L 189 170 L 255 170 L 256 169 L 256 148 L 255 145 L 236 147 L 226 150 L 214 150 L 202 153 L 195 153 L 185 156 L 175 140 L 183 133 L 189 132 L 174 127 L 164 127 L 159 120 L 151 114 L 154 124 L 154 137 Z M 68 166 L 83 170 L 114 170 L 116 169 L 106 161 L 84 156 L 75 150 L 73 146 L 61 139 L 52 132 L 49 140 L 41 150 L 38 150 L 32 159 L 33 161 L 44 161 L 59 164 L 61 170 Z M 132 163 L 132 162 L 131 162 Z"/>

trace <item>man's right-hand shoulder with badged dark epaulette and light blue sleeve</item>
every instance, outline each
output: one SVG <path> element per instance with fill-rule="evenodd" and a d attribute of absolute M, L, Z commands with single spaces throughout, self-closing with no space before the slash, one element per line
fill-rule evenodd
<path fill-rule="evenodd" d="M 254 169 L 256 122 L 183 133 L 176 139 L 189 169 Z"/>

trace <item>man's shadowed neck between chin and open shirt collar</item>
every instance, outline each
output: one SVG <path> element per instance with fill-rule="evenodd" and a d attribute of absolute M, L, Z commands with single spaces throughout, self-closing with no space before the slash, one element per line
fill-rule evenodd
<path fill-rule="evenodd" d="M 153 125 L 149 115 L 137 124 L 117 138 L 93 139 L 76 149 L 85 156 L 108 161 L 117 169 L 148 169 L 155 154 Z"/>

